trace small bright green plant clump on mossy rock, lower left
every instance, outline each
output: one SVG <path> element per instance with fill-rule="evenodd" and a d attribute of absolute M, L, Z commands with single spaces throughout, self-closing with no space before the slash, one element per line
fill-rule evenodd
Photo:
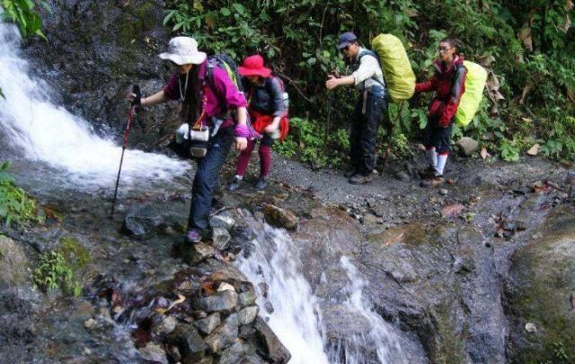
<path fill-rule="evenodd" d="M 82 282 L 75 279 L 74 271 L 62 253 L 46 252 L 40 255 L 32 280 L 40 289 L 61 289 L 66 295 L 78 297 L 82 294 Z"/>

